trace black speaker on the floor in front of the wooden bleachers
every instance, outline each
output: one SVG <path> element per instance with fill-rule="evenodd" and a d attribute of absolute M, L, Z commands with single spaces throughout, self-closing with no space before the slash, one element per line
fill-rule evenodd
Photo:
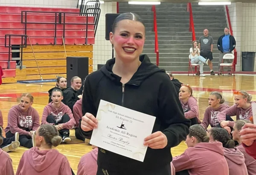
<path fill-rule="evenodd" d="M 89 58 L 67 56 L 67 87 L 71 85 L 73 76 L 79 76 L 81 80 L 89 74 Z"/>

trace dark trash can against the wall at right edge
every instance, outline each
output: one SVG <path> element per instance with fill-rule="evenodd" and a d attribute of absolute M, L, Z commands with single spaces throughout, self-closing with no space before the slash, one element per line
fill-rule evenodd
<path fill-rule="evenodd" d="M 254 71 L 256 52 L 242 52 L 242 71 Z"/>

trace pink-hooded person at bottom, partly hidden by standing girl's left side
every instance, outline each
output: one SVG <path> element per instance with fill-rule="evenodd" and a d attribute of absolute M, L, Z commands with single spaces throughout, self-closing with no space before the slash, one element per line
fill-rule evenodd
<path fill-rule="evenodd" d="M 93 150 L 83 155 L 77 167 L 77 175 L 96 175 L 98 165 L 98 147 L 92 145 Z"/>

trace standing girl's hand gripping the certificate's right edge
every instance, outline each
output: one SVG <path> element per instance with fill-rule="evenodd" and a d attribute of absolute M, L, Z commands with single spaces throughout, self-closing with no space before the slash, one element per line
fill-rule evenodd
<path fill-rule="evenodd" d="M 144 145 L 148 145 L 152 149 L 163 149 L 167 146 L 167 137 L 162 132 L 157 131 L 144 139 Z"/>

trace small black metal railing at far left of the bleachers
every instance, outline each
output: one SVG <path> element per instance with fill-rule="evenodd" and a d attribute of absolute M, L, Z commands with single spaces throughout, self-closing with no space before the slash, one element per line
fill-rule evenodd
<path fill-rule="evenodd" d="M 19 46 L 12 45 L 11 38 L 12 37 L 21 37 L 21 44 Z M 9 39 L 7 45 L 7 38 Z M 23 42 L 24 41 L 24 42 Z M 21 56 L 20 56 L 20 70 L 22 69 L 22 58 L 23 58 L 23 48 L 27 47 L 27 35 L 15 35 L 15 34 L 6 34 L 4 40 L 4 47 L 9 48 L 9 57 L 8 57 L 8 69 L 10 69 L 10 61 L 11 61 L 11 48 L 21 48 Z"/>

